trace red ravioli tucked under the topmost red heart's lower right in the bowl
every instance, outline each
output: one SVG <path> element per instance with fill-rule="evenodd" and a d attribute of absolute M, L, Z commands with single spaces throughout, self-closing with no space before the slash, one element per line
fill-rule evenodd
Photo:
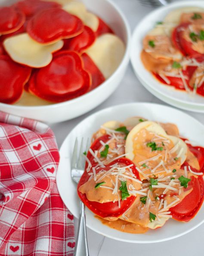
<path fill-rule="evenodd" d="M 82 52 L 89 48 L 96 40 L 96 35 L 92 29 L 84 26 L 84 30 L 80 35 L 64 40 L 64 50 Z"/>

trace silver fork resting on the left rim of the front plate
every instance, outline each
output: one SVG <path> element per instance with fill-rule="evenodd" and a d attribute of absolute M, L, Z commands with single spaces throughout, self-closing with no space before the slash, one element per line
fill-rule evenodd
<path fill-rule="evenodd" d="M 88 140 L 87 140 L 88 145 Z M 81 139 L 79 155 L 78 152 L 78 140 L 76 138 L 74 144 L 74 150 L 71 160 L 71 178 L 74 182 L 78 183 L 80 177 L 84 171 L 85 161 L 83 159 L 83 138 Z M 86 208 L 82 201 L 80 201 L 80 215 L 79 225 L 77 230 L 77 241 L 74 249 L 74 256 L 89 256 L 88 244 L 87 244 L 87 227 L 86 227 Z"/>

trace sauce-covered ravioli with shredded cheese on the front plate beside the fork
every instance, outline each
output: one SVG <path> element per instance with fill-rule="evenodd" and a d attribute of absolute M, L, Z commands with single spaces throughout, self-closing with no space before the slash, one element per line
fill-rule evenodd
<path fill-rule="evenodd" d="M 127 233 L 190 221 L 204 200 L 204 148 L 175 124 L 132 117 L 93 134 L 77 192 L 103 224 Z"/>

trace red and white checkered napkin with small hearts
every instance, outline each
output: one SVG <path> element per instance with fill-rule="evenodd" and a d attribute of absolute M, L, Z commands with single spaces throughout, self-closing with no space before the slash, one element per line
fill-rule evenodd
<path fill-rule="evenodd" d="M 47 125 L 0 112 L 0 256 L 73 255 L 73 215 L 57 190 L 58 164 Z"/>

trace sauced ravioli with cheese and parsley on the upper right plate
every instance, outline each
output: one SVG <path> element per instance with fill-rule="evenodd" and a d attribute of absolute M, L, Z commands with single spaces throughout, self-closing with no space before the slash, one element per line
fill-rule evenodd
<path fill-rule="evenodd" d="M 157 80 L 204 96 L 204 9 L 170 12 L 143 38 L 141 60 Z"/>

